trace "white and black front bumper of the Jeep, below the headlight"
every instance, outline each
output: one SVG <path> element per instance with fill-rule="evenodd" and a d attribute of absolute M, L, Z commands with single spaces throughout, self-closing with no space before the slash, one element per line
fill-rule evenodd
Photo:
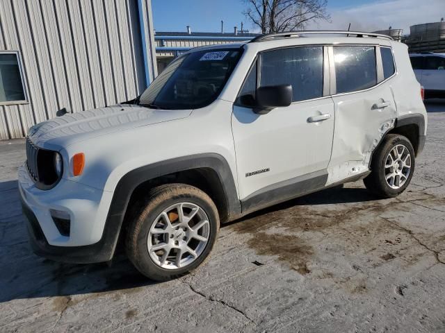
<path fill-rule="evenodd" d="M 120 223 L 108 214 L 112 194 L 69 180 L 60 180 L 53 189 L 42 191 L 33 185 L 24 167 L 19 168 L 19 192 L 28 220 L 33 251 L 61 262 L 106 262 L 113 257 Z M 60 234 L 50 210 L 70 215 L 70 235 Z"/>

